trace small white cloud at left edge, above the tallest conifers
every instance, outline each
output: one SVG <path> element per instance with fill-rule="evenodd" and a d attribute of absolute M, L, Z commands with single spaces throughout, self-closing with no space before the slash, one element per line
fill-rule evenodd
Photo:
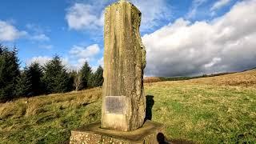
<path fill-rule="evenodd" d="M 0 20 L 0 42 L 13 41 L 14 39 L 25 36 L 26 31 L 19 31 L 15 26 Z"/>

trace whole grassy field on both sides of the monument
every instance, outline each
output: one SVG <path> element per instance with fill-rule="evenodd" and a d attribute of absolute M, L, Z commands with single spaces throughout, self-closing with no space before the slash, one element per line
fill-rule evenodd
<path fill-rule="evenodd" d="M 256 70 L 212 78 L 145 84 L 155 122 L 170 139 L 256 142 Z M 1 143 L 64 143 L 70 130 L 101 117 L 100 88 L 0 104 Z"/>

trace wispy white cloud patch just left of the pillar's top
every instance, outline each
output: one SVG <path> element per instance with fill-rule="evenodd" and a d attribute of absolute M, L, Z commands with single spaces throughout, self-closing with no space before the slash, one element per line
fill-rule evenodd
<path fill-rule="evenodd" d="M 70 29 L 98 29 L 103 25 L 103 14 L 95 13 L 96 6 L 89 4 L 75 3 L 67 10 L 66 20 Z"/>

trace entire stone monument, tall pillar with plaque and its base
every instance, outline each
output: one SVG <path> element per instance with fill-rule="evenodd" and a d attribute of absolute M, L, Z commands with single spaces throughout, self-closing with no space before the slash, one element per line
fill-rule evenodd
<path fill-rule="evenodd" d="M 158 143 L 162 124 L 145 121 L 141 17 L 125 0 L 106 7 L 102 122 L 72 130 L 70 143 Z"/>

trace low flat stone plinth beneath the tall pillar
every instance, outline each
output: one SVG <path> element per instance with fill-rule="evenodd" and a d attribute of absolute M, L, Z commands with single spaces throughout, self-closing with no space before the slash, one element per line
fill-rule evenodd
<path fill-rule="evenodd" d="M 70 144 L 158 144 L 158 134 L 162 133 L 164 126 L 157 122 L 146 121 L 138 130 L 122 132 L 100 128 L 100 123 L 90 124 L 71 131 Z"/>

